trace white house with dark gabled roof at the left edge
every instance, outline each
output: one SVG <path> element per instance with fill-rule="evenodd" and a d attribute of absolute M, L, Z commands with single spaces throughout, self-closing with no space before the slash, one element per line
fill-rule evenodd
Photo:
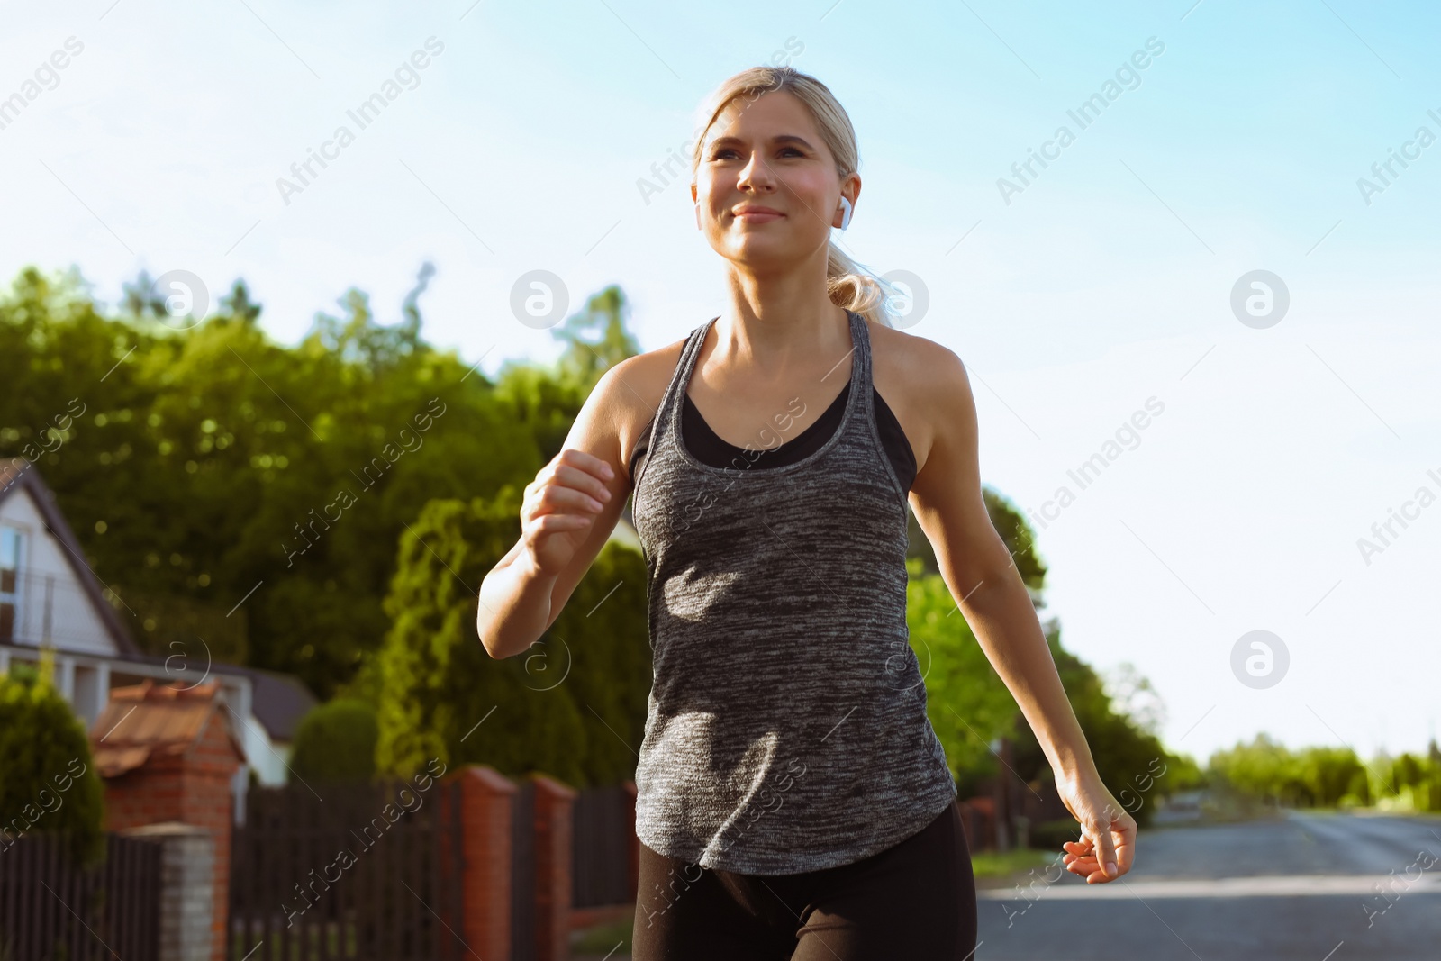
<path fill-rule="evenodd" d="M 290 674 L 144 654 L 130 634 L 133 615 L 108 596 L 35 464 L 0 460 L 0 674 L 52 647 L 56 687 L 86 729 L 114 687 L 216 681 L 245 754 L 235 775 L 238 813 L 249 772 L 284 784 L 295 726 L 314 694 Z"/>

